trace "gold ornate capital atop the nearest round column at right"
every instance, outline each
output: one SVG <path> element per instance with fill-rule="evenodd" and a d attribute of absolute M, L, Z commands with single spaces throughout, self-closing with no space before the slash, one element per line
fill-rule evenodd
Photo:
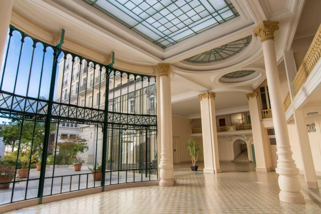
<path fill-rule="evenodd" d="M 254 36 L 261 37 L 261 42 L 264 42 L 269 39 L 274 39 L 274 31 L 279 30 L 278 24 L 279 22 L 277 21 L 262 21 L 253 30 Z"/>

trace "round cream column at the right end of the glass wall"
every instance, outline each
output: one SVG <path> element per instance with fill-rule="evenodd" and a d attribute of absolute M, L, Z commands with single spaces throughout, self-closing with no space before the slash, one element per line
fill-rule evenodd
<path fill-rule="evenodd" d="M 172 120 L 170 101 L 169 63 L 158 64 L 160 72 L 160 129 L 161 129 L 161 158 L 160 158 L 160 186 L 174 185 L 172 158 Z"/>

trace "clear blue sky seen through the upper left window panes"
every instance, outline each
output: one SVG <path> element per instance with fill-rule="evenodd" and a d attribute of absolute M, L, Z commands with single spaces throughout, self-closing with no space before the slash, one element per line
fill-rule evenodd
<path fill-rule="evenodd" d="M 24 39 L 22 49 L 21 49 L 21 44 L 22 44 L 21 39 L 22 39 L 21 34 L 18 31 L 13 31 L 13 36 L 11 37 L 11 41 L 10 41 L 5 70 L 4 70 L 4 63 L 2 64 L 2 68 L 1 68 L 0 80 L 2 80 L 3 78 L 3 85 L 1 89 L 12 93 L 14 92 L 15 94 L 22 95 L 22 96 L 38 98 L 39 85 L 40 85 L 39 83 L 41 83 L 39 97 L 48 99 L 54 51 L 51 47 L 47 47 L 46 52 L 44 53 L 43 51 L 44 46 L 38 42 L 36 43 L 34 55 L 32 57 L 32 50 L 33 50 L 32 39 L 30 39 L 29 37 L 26 37 Z M 7 51 L 7 48 L 8 48 L 8 41 L 9 41 L 9 34 L 7 37 L 7 46 L 5 48 L 5 51 Z M 19 69 L 18 69 L 20 50 L 22 52 L 21 52 Z M 60 54 L 59 59 L 62 56 L 63 54 Z M 42 60 L 43 60 L 43 72 L 40 80 Z M 31 61 L 32 61 L 32 67 L 31 67 Z M 31 68 L 31 73 L 30 73 L 30 68 Z M 17 69 L 18 69 L 18 73 L 17 73 Z M 28 87 L 29 74 L 30 74 L 30 82 Z M 57 77 L 58 75 L 56 75 L 56 79 Z M 15 85 L 16 78 L 17 78 L 17 81 Z M 9 120 L 6 118 L 0 118 L 0 123 L 2 123 L 3 121 L 8 122 Z"/>

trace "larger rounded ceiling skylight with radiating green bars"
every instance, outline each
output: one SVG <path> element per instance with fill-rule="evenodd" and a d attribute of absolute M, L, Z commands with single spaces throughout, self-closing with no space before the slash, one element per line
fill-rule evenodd
<path fill-rule="evenodd" d="M 191 63 L 211 63 L 224 60 L 244 50 L 248 44 L 250 44 L 251 40 L 252 35 L 189 57 L 185 59 L 185 61 Z"/>

